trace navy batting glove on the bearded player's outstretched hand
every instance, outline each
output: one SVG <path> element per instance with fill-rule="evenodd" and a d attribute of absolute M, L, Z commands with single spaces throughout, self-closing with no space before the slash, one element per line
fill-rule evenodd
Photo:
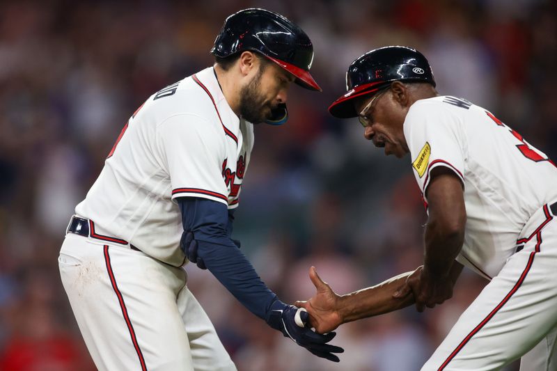
<path fill-rule="evenodd" d="M 267 324 L 273 329 L 281 331 L 284 336 L 292 339 L 300 347 L 308 349 L 315 356 L 327 358 L 329 361 L 340 361 L 334 353 L 343 353 L 344 349 L 327 344 L 327 342 L 333 340 L 336 333 L 330 332 L 322 335 L 312 331 L 307 325 L 299 326 L 295 321 L 298 310 L 300 311 L 301 322 L 306 324 L 309 315 L 305 310 L 295 306 L 288 306 L 277 299 L 272 303 L 271 309 L 267 314 Z"/>

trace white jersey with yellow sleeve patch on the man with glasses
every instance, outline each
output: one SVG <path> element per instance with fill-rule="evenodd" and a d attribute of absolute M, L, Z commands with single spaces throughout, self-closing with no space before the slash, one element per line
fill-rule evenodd
<path fill-rule="evenodd" d="M 494 277 L 528 219 L 557 200 L 557 167 L 492 113 L 460 98 L 414 103 L 404 134 L 426 207 L 432 168 L 446 166 L 461 178 L 467 221 L 457 260 Z"/>

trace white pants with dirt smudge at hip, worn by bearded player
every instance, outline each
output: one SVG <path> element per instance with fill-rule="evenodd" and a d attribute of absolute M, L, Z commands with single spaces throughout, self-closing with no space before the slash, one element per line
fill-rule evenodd
<path fill-rule="evenodd" d="M 183 269 L 71 233 L 58 265 L 99 370 L 236 370 Z"/>

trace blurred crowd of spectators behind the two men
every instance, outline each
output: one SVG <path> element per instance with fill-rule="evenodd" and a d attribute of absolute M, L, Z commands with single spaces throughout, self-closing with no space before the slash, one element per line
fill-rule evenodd
<path fill-rule="evenodd" d="M 311 265 L 344 294 L 421 264 L 426 214 L 411 159 L 384 157 L 357 120 L 327 113 L 364 52 L 416 47 L 441 94 L 485 106 L 557 159 L 554 1 L 1 1 L 0 370 L 95 370 L 58 274 L 65 227 L 131 113 L 211 65 L 223 20 L 249 7 L 308 33 L 323 88 L 293 87 L 289 122 L 256 127 L 235 221 L 284 301 L 311 297 Z M 237 367 L 253 371 L 418 370 L 485 285 L 465 271 L 443 306 L 346 324 L 333 364 L 269 329 L 207 271 L 185 269 Z"/>

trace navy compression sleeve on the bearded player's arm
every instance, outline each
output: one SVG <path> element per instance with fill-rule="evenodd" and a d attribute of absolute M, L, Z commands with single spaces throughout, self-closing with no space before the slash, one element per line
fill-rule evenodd
<path fill-rule="evenodd" d="M 277 299 L 230 239 L 233 215 L 228 207 L 205 198 L 178 198 L 185 231 L 194 233 L 197 255 L 205 267 L 254 315 L 265 319 Z"/>

